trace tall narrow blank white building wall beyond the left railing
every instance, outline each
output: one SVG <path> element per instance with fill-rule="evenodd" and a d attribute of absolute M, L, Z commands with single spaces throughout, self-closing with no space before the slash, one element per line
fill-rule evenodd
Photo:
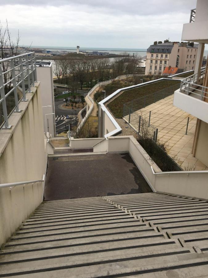
<path fill-rule="evenodd" d="M 44 132 L 49 132 L 52 136 L 55 136 L 55 115 L 46 115 L 55 113 L 54 108 L 54 91 L 53 91 L 53 72 L 52 63 L 50 66 L 37 66 L 37 80 L 40 81 L 40 90 L 42 97 L 43 107 L 43 127 Z"/>

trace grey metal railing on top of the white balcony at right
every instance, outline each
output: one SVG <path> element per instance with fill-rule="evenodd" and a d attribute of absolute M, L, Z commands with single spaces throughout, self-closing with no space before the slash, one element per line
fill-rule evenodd
<path fill-rule="evenodd" d="M 199 85 L 199 83 L 202 82 L 204 75 L 205 67 L 201 69 L 199 75 L 196 73 L 181 80 L 180 92 L 208 102 L 208 87 Z"/>

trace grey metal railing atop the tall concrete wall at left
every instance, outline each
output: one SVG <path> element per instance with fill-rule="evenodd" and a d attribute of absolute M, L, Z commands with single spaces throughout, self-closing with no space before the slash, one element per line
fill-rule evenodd
<path fill-rule="evenodd" d="M 0 127 L 11 128 L 10 114 L 21 112 L 19 102 L 27 101 L 26 93 L 31 93 L 35 81 L 35 52 L 0 60 Z"/>

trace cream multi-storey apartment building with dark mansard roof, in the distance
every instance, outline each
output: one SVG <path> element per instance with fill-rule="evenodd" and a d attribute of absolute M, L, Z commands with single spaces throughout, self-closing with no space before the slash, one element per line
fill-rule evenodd
<path fill-rule="evenodd" d="M 176 67 L 181 72 L 194 70 L 198 44 L 193 42 L 155 41 L 147 49 L 145 74 L 162 75 L 166 67 Z"/>

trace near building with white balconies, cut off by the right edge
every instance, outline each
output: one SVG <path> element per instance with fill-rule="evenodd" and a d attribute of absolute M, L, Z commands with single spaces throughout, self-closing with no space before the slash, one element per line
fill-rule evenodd
<path fill-rule="evenodd" d="M 175 91 L 173 102 L 176 107 L 198 118 L 192 153 L 205 165 L 208 165 L 208 63 L 203 70 L 201 66 L 205 44 L 208 44 L 208 31 L 204 28 L 208 26 L 207 15 L 208 2 L 198 0 L 196 9 L 191 10 L 190 23 L 183 25 L 182 40 L 198 43 L 198 56 L 194 75 L 181 81 L 181 88 Z M 188 50 L 191 54 L 191 49 Z"/>

